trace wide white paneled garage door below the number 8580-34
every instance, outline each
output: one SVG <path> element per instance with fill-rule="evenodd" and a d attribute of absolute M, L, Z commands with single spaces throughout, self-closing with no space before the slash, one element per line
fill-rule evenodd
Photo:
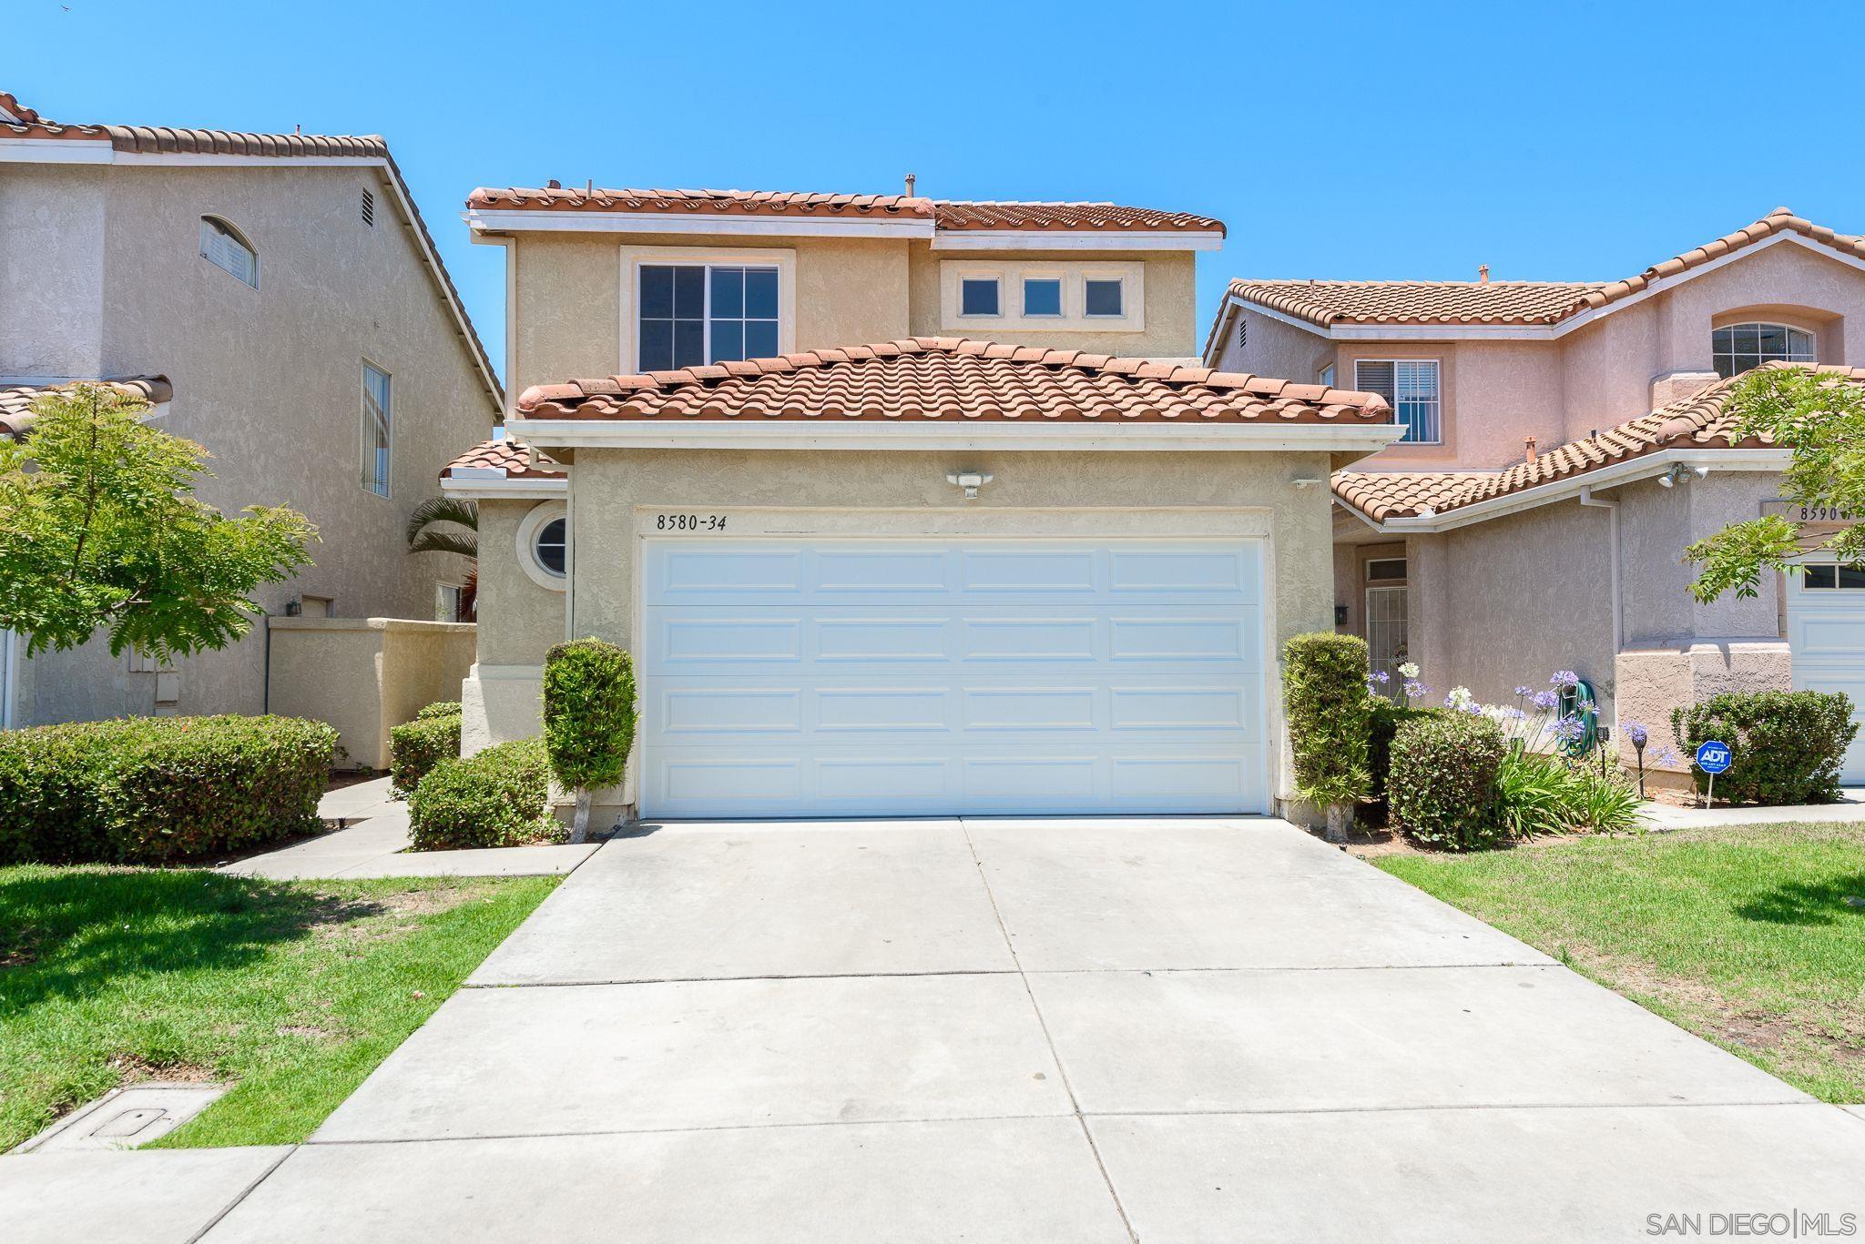
<path fill-rule="evenodd" d="M 1257 541 L 649 541 L 642 811 L 1266 811 Z"/>

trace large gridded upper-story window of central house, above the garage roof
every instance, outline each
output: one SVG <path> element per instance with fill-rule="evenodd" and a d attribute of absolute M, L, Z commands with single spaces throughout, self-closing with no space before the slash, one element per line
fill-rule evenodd
<path fill-rule="evenodd" d="M 673 371 L 778 354 L 778 269 L 643 263 L 636 366 Z"/>

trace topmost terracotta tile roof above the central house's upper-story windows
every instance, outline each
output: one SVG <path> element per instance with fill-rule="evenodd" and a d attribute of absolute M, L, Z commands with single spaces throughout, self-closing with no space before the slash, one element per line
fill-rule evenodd
<path fill-rule="evenodd" d="M 610 190 L 602 187 L 481 187 L 476 211 L 653 213 L 696 216 L 802 216 L 843 220 L 927 220 L 938 229 L 1195 231 L 1223 233 L 1223 222 L 1190 213 L 1115 203 L 959 203 L 905 194 L 800 194 L 787 190 Z"/>

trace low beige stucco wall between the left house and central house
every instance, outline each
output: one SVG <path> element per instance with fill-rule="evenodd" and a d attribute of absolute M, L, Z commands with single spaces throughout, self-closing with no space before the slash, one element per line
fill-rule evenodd
<path fill-rule="evenodd" d="M 274 617 L 272 712 L 328 722 L 351 765 L 388 768 L 388 731 L 461 698 L 474 655 L 468 623 L 390 617 Z"/>

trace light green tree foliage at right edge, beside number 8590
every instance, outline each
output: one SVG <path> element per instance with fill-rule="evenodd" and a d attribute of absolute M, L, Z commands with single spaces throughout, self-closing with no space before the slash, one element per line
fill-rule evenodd
<path fill-rule="evenodd" d="M 1731 440 L 1762 436 L 1792 451 L 1781 496 L 1802 513 L 1830 513 L 1846 522 L 1835 533 L 1809 535 L 1807 524 L 1783 515 L 1733 522 L 1697 541 L 1684 558 L 1697 567 L 1690 595 L 1708 604 L 1725 591 L 1753 597 L 1761 576 L 1792 571 L 1794 560 L 1822 552 L 1841 563 L 1865 561 L 1865 390 L 1837 371 L 1759 367 L 1729 392 Z"/>

